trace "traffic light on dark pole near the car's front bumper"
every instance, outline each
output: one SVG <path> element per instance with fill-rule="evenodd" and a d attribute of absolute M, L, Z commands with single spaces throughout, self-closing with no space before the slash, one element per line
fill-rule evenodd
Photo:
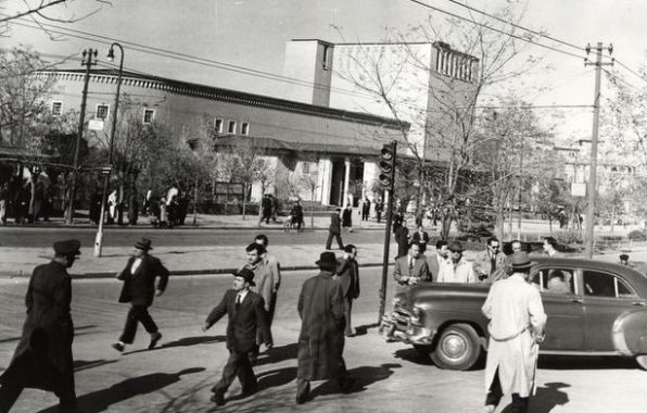
<path fill-rule="evenodd" d="M 384 255 L 382 258 L 382 284 L 380 287 L 380 313 L 378 314 L 378 324 L 382 323 L 382 317 L 384 316 L 386 308 L 386 280 L 389 279 L 389 246 L 391 243 L 391 224 L 393 222 L 393 187 L 395 183 L 396 147 L 397 143 L 395 141 L 384 145 L 380 159 L 380 167 L 383 172 L 383 174 L 380 174 L 380 182 L 382 185 L 386 184 L 386 180 L 389 182 L 386 187 L 389 201 L 386 202 L 386 226 L 384 227 Z M 388 158 L 388 153 L 391 153 L 391 158 Z M 388 166 L 391 166 L 390 171 L 388 171 Z"/>

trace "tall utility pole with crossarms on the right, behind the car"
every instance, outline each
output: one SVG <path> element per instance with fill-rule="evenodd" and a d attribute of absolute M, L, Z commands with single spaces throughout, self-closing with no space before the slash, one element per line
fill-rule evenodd
<path fill-rule="evenodd" d="M 591 53 L 591 45 L 586 45 L 586 54 Z M 593 227 L 595 226 L 595 192 L 597 188 L 597 141 L 598 141 L 598 128 L 600 121 L 600 77 L 602 66 L 609 66 L 613 64 L 613 59 L 610 63 L 602 63 L 602 43 L 597 42 L 595 47 L 596 59 L 595 62 L 589 62 L 588 58 L 584 59 L 585 66 L 595 66 L 595 96 L 593 98 L 593 133 L 591 136 L 591 162 L 588 168 L 588 186 L 587 191 L 587 205 L 586 205 L 586 233 L 584 235 L 585 252 L 586 258 L 593 258 Z M 613 53 L 613 45 L 609 45 L 607 48 L 609 55 Z"/>

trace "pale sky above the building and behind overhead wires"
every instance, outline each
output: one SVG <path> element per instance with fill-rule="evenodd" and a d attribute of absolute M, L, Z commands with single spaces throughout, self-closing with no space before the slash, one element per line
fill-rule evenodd
<path fill-rule="evenodd" d="M 505 0 L 459 1 L 490 13 L 507 3 Z M 466 9 L 452 0 L 419 2 L 467 16 Z M 545 32 L 582 48 L 597 41 L 605 46 L 612 43 L 613 57 L 634 71 L 645 62 L 646 45 L 643 39 L 647 1 L 528 0 L 522 3 L 525 3 L 527 9 L 520 25 L 524 27 Z M 13 4 L 20 7 L 21 2 L 15 1 Z M 11 13 L 11 5 L 4 12 Z M 42 29 L 12 25 L 10 37 L 0 39 L 0 47 L 30 45 L 46 59 L 55 60 L 58 57 L 78 54 L 85 48 L 97 48 L 100 55 L 105 55 L 110 43 L 119 41 L 125 49 L 124 65 L 127 70 L 281 97 L 280 90 L 286 84 L 267 77 L 268 74 L 282 74 L 286 42 L 290 39 L 380 41 L 386 29 L 406 30 L 408 26 L 427 18 L 429 12 L 436 20 L 446 17 L 411 0 L 111 0 L 110 4 L 75 0 L 65 8 L 52 9 L 48 15 L 71 18 L 92 12 L 96 13 L 75 23 L 46 22 L 79 30 L 76 35 L 86 39 L 56 35 L 54 32 L 59 29 L 47 26 L 52 30 L 49 35 L 56 37 L 51 39 Z M 25 21 L 16 23 L 34 25 Z M 492 22 L 492 25 L 503 27 L 496 22 Z M 96 37 L 88 34 L 100 35 L 103 39 L 97 41 Z M 583 51 L 559 42 L 547 39 L 540 41 L 585 55 Z M 130 42 L 183 53 L 186 60 L 142 53 L 134 50 Z M 520 91 L 522 97 L 535 105 L 593 103 L 594 70 L 585 67 L 583 59 L 534 46 L 529 46 L 525 52 L 543 57 L 551 70 L 512 82 L 509 86 Z M 187 61 L 191 57 L 207 59 L 211 63 Z M 104 62 L 105 59 L 102 59 Z M 224 65 L 228 70 L 221 68 Z M 79 65 L 78 62 L 68 62 L 64 67 Z M 618 65 L 616 68 L 636 87 L 645 86 L 645 80 Z M 257 72 L 250 74 L 249 70 Z M 541 93 L 535 91 L 540 87 L 545 89 Z M 607 90 L 602 87 L 605 95 Z M 556 125 L 560 139 L 567 143 L 591 137 L 591 108 L 559 111 L 553 108 L 538 109 L 537 113 L 546 125 Z M 556 116 L 558 113 L 562 116 Z"/>

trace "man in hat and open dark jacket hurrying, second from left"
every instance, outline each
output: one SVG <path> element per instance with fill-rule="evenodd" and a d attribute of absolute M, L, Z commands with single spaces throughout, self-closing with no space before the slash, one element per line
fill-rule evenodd
<path fill-rule="evenodd" d="M 128 259 L 126 267 L 117 274 L 117 279 L 124 281 L 119 302 L 129 302 L 130 310 L 124 325 L 124 333 L 112 348 L 122 352 L 126 345 L 131 345 L 137 333 L 137 325 L 141 323 L 151 335 L 149 350 L 152 350 L 162 338 L 157 325 L 149 314 L 149 306 L 154 296 L 161 296 L 168 284 L 168 270 L 155 256 L 149 254 L 152 250 L 151 240 L 142 238 L 132 249 L 132 256 Z M 160 277 L 155 289 L 155 278 Z"/>

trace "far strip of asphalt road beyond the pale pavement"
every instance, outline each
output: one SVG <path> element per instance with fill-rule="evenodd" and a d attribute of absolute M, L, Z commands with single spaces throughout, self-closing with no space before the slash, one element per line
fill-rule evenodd
<path fill-rule="evenodd" d="M 147 237 L 155 247 L 169 246 L 245 246 L 253 241 L 256 234 L 266 234 L 271 245 L 321 245 L 328 236 L 327 230 L 304 233 L 283 233 L 280 229 L 268 228 L 234 228 L 234 229 L 154 229 L 142 228 L 106 228 L 103 234 L 104 247 L 130 246 L 140 237 Z M 49 247 L 61 238 L 76 238 L 84 246 L 94 245 L 96 228 L 38 228 L 38 227 L 0 227 L 0 247 Z M 357 245 L 382 242 L 383 230 L 359 229 L 344 233 L 345 243 Z"/>

